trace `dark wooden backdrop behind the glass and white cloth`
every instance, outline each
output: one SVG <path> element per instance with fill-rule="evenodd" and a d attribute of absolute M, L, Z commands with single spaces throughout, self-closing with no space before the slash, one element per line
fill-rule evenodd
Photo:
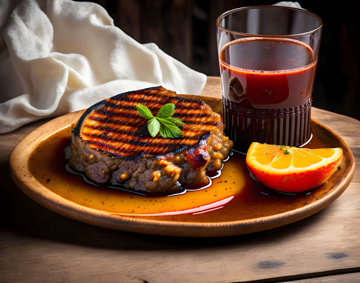
<path fill-rule="evenodd" d="M 239 0 L 93 2 L 102 5 L 114 24 L 138 42 L 154 42 L 167 54 L 208 76 L 220 76 L 216 18 L 227 10 L 276 3 Z M 323 21 L 313 106 L 360 120 L 358 4 L 352 1 L 353 4 L 330 5 L 330 2 L 314 0 L 299 3 Z"/>

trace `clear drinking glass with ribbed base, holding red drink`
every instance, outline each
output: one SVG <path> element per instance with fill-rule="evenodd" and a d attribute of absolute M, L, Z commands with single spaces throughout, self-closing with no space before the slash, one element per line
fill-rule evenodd
<path fill-rule="evenodd" d="M 297 8 L 253 6 L 221 14 L 216 25 L 225 134 L 233 149 L 308 143 L 321 19 Z"/>

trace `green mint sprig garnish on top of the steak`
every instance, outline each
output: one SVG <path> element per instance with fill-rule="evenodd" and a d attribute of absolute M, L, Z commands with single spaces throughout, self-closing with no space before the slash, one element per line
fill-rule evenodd
<path fill-rule="evenodd" d="M 175 111 L 174 103 L 167 103 L 163 105 L 156 117 L 153 116 L 149 108 L 145 105 L 138 104 L 136 105 L 136 109 L 138 109 L 141 116 L 148 121 L 148 131 L 149 134 L 154 138 L 159 132 L 163 138 L 182 138 L 183 133 L 177 127 L 177 125 L 184 125 L 184 123 L 176 118 L 172 118 L 171 116 Z"/>

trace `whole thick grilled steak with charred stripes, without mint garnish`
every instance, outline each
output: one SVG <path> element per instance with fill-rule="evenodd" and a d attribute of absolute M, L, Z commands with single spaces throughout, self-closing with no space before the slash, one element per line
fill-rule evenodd
<path fill-rule="evenodd" d="M 224 136 L 220 115 L 202 101 L 175 96 L 163 87 L 130 91 L 102 100 L 81 116 L 71 137 L 69 165 L 97 183 L 123 184 L 162 192 L 181 184 L 205 185 L 206 170 L 219 170 L 233 142 Z M 175 104 L 172 117 L 184 122 L 183 138 L 153 138 L 143 104 L 156 116 Z"/>

